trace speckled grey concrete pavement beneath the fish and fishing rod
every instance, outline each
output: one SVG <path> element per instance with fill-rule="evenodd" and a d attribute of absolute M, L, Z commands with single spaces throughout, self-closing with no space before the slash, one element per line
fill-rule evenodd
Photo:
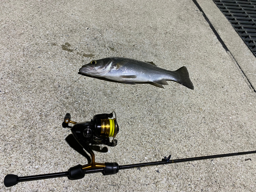
<path fill-rule="evenodd" d="M 254 151 L 255 57 L 214 2 L 198 3 L 231 54 L 193 1 L 2 2 L 0 179 L 87 164 L 65 141 L 66 113 L 81 122 L 116 112 L 118 145 L 96 152 L 97 162 Z M 77 74 L 92 59 L 110 56 L 153 61 L 168 70 L 186 66 L 195 90 L 175 82 L 160 89 Z M 255 191 L 255 160 L 236 156 L 10 188 L 0 182 L 0 190 Z"/>

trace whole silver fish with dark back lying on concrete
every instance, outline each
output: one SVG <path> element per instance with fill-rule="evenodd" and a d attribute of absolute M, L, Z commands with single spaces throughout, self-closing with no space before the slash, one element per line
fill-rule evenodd
<path fill-rule="evenodd" d="M 157 67 L 152 62 L 125 57 L 92 60 L 79 69 L 79 74 L 127 84 L 150 83 L 159 88 L 164 88 L 163 85 L 167 85 L 167 81 L 175 81 L 194 90 L 185 66 L 176 71 L 169 71 Z"/>

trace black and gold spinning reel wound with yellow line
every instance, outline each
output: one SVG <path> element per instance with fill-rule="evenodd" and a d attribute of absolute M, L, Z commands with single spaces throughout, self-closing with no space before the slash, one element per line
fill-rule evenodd
<path fill-rule="evenodd" d="M 115 112 L 114 112 L 115 113 Z M 67 113 L 64 117 L 62 127 L 71 128 L 73 135 L 69 135 L 66 141 L 70 144 L 75 151 L 83 155 L 88 159 L 89 164 L 82 166 L 82 169 L 105 167 L 104 163 L 96 163 L 95 155 L 91 149 L 94 148 L 95 151 L 100 151 L 99 147 L 90 146 L 90 144 L 105 144 L 108 146 L 116 146 L 117 140 L 115 139 L 116 134 L 119 132 L 119 127 L 115 118 L 113 118 L 113 113 L 111 114 L 98 114 L 93 117 L 91 121 L 77 123 L 71 121 L 71 115 Z M 69 126 L 69 123 L 74 124 L 74 126 Z M 110 137 L 113 140 L 110 142 Z M 80 145 L 80 146 L 79 146 Z M 86 150 L 91 158 L 84 152 Z M 105 148 L 107 152 L 108 148 Z"/>

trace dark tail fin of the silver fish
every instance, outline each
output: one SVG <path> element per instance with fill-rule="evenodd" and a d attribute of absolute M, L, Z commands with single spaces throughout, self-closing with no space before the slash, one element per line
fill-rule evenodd
<path fill-rule="evenodd" d="M 177 79 L 175 80 L 176 82 L 182 84 L 183 86 L 194 90 L 193 83 L 189 79 L 188 71 L 185 66 L 181 67 L 180 69 L 175 71 L 177 74 Z"/>

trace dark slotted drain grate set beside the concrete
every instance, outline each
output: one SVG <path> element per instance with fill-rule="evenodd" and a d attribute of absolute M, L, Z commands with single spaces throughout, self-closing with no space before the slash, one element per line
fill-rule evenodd
<path fill-rule="evenodd" d="M 213 0 L 256 56 L 256 0 Z"/>

